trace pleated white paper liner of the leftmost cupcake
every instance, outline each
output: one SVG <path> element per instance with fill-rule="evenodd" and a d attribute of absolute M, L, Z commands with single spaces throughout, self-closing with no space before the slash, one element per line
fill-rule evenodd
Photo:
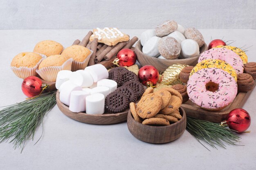
<path fill-rule="evenodd" d="M 32 68 L 29 68 L 29 67 L 15 67 L 15 66 L 11 66 L 11 70 L 13 71 L 13 73 L 17 76 L 17 77 L 20 77 L 22 79 L 25 79 L 29 76 L 36 76 L 37 73 L 36 73 L 36 69 L 38 68 L 39 64 L 46 58 L 46 55 L 43 55 L 43 54 L 40 54 L 38 53 L 39 55 L 42 56 L 42 59 L 39 60 L 39 62 Z"/>

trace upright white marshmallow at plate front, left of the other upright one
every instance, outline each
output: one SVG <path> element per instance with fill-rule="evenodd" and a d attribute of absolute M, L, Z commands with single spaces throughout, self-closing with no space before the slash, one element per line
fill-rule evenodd
<path fill-rule="evenodd" d="M 89 95 L 90 93 L 86 91 L 72 91 L 70 95 L 70 111 L 76 113 L 85 111 L 85 98 Z"/>

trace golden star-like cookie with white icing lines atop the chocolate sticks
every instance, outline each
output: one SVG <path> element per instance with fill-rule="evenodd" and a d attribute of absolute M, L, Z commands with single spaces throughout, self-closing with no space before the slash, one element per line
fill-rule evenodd
<path fill-rule="evenodd" d="M 128 41 L 129 35 L 122 33 L 117 28 L 108 28 L 104 29 L 93 29 L 93 34 L 90 37 L 90 41 L 93 41 L 94 38 L 98 38 L 98 42 L 104 43 L 108 46 L 114 46 L 119 42 Z"/>

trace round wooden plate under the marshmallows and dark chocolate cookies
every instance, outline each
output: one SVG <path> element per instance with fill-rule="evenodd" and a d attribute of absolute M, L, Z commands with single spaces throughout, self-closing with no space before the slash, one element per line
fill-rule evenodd
<path fill-rule="evenodd" d="M 58 108 L 67 117 L 70 117 L 71 119 L 74 119 L 76 121 L 80 121 L 86 124 L 99 124 L 99 125 L 117 124 L 127 120 L 127 114 L 129 111 L 129 109 L 127 109 L 121 113 L 115 113 L 115 114 L 104 113 L 104 114 L 98 114 L 98 115 L 91 115 L 83 112 L 74 113 L 69 110 L 67 105 L 63 104 L 60 101 L 59 91 L 57 91 L 56 93 L 56 102 L 57 102 Z"/>

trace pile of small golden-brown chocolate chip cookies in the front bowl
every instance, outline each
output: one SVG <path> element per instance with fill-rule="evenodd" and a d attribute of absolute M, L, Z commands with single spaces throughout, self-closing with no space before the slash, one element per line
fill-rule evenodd
<path fill-rule="evenodd" d="M 182 95 L 173 88 L 161 88 L 154 92 L 147 88 L 137 103 L 130 103 L 133 118 L 139 123 L 153 126 L 170 125 L 182 118 L 179 112 Z"/>

